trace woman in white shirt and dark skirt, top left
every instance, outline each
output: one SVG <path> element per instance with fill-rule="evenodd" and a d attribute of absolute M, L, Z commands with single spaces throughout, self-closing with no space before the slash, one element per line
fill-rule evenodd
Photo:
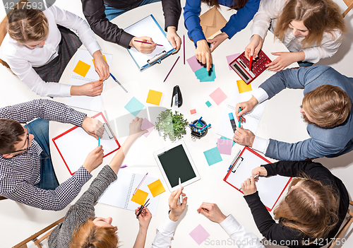
<path fill-rule="evenodd" d="M 28 7 L 19 6 L 8 13 L 8 34 L 1 48 L 13 73 L 41 96 L 100 95 L 109 66 L 88 23 L 54 5 L 44 11 Z M 82 43 L 95 59 L 100 80 L 84 85 L 57 83 Z"/>

